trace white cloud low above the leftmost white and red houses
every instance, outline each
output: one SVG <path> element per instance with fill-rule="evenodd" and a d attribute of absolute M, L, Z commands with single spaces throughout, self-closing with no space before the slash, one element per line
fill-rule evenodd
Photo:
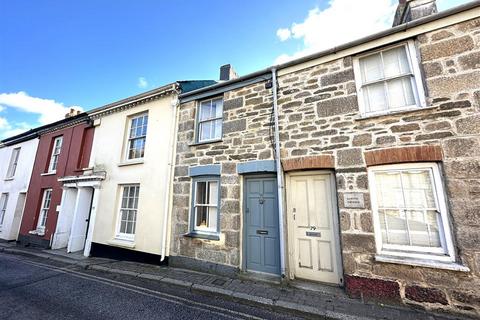
<path fill-rule="evenodd" d="M 1 93 L 0 105 L 23 112 L 38 114 L 38 122 L 40 124 L 47 124 L 63 119 L 65 114 L 70 111 L 70 108 L 82 110 L 82 108 L 78 106 L 65 107 L 63 103 L 56 102 L 55 100 L 31 97 L 24 91 Z"/>

